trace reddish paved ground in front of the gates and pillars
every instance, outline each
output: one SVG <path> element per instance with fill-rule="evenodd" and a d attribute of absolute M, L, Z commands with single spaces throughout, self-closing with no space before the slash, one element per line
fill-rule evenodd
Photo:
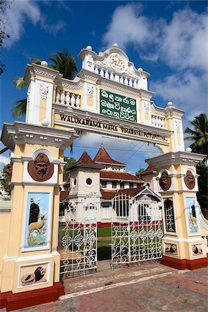
<path fill-rule="evenodd" d="M 111 270 L 101 261 L 93 275 L 64 279 L 59 301 L 17 311 L 207 312 L 207 275 L 208 268 L 175 270 L 159 262 Z"/>

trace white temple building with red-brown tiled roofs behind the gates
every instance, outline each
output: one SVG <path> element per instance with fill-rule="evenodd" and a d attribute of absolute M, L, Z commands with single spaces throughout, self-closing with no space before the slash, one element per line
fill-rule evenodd
<path fill-rule="evenodd" d="M 62 222 L 71 218 L 70 207 L 79 205 L 89 194 L 94 197 L 95 204 L 87 211 L 87 218 L 98 223 L 111 223 L 117 219 L 127 218 L 129 211 L 125 202 L 139 200 L 134 218 L 144 215 L 146 220 L 162 219 L 161 198 L 157 194 L 157 183 L 154 180 L 154 168 L 147 168 L 137 175 L 125 172 L 126 164 L 112 159 L 104 146 L 98 150 L 94 159 L 86 151 L 76 164 L 68 168 L 69 180 L 65 181 L 60 192 L 60 217 Z M 150 188 L 150 184 L 155 189 Z M 116 198 L 119 201 L 116 202 Z M 82 208 L 80 208 L 82 209 Z M 73 216 L 78 218 L 78 214 Z"/>

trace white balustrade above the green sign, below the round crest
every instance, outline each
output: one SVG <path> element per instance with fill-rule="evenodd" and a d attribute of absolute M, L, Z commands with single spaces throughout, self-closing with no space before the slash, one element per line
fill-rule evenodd
<path fill-rule="evenodd" d="M 142 74 L 139 78 L 132 78 L 131 76 L 114 73 L 113 71 L 98 66 L 94 67 L 94 72 L 104 78 L 114 80 L 116 83 L 122 83 L 123 85 L 128 85 L 129 87 L 137 89 L 147 89 L 147 80 L 146 77 L 142 76 Z"/>

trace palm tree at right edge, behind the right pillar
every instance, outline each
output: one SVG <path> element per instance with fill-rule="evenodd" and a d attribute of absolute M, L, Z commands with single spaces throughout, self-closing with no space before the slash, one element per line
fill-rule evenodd
<path fill-rule="evenodd" d="M 208 119 L 207 114 L 199 114 L 191 121 L 193 130 L 190 128 L 185 129 L 185 133 L 189 133 L 190 137 L 185 137 L 185 140 L 191 140 L 193 143 L 190 145 L 194 153 L 202 153 L 207 155 L 208 151 Z"/>

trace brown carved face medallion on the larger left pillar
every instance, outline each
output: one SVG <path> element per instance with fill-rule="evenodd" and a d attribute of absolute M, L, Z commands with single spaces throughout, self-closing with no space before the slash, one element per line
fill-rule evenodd
<path fill-rule="evenodd" d="M 33 180 L 43 182 L 49 180 L 54 171 L 54 166 L 49 161 L 49 158 L 40 153 L 35 157 L 35 160 L 28 162 L 28 173 L 33 177 Z"/>

